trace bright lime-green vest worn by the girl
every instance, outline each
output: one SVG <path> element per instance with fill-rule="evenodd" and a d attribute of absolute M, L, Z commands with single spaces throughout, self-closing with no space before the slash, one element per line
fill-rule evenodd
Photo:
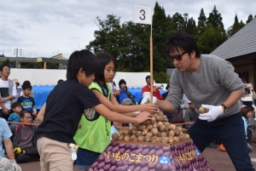
<path fill-rule="evenodd" d="M 111 88 L 108 83 L 108 100 L 111 94 Z M 102 94 L 102 88 L 97 83 L 91 83 L 90 89 L 97 89 Z M 95 113 L 93 109 L 87 109 L 84 113 Z M 87 116 L 87 115 L 86 115 Z M 73 137 L 79 148 L 89 151 L 102 153 L 110 143 L 111 122 L 105 117 L 98 117 L 96 120 L 88 120 L 84 114 L 82 115 L 79 128 Z"/>

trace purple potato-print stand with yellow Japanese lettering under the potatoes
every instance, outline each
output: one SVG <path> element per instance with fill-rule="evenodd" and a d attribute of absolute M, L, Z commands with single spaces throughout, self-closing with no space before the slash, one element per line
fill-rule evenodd
<path fill-rule="evenodd" d="M 213 171 L 191 140 L 176 145 L 138 143 L 110 143 L 89 171 Z"/>

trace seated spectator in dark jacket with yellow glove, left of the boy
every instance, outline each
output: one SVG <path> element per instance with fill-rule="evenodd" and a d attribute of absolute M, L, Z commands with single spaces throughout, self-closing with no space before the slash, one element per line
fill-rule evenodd
<path fill-rule="evenodd" d="M 32 123 L 29 111 L 21 111 L 20 123 Z M 16 124 L 10 127 L 17 162 L 35 162 L 40 160 L 37 147 L 37 127 L 34 125 Z"/>

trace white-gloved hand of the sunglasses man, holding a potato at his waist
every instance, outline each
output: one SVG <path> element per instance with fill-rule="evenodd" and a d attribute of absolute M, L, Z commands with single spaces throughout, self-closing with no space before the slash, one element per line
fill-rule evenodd
<path fill-rule="evenodd" d="M 218 105 L 201 105 L 204 108 L 207 108 L 209 111 L 207 113 L 201 113 L 199 119 L 207 120 L 208 122 L 214 121 L 219 115 L 224 113 L 223 108 Z"/>

